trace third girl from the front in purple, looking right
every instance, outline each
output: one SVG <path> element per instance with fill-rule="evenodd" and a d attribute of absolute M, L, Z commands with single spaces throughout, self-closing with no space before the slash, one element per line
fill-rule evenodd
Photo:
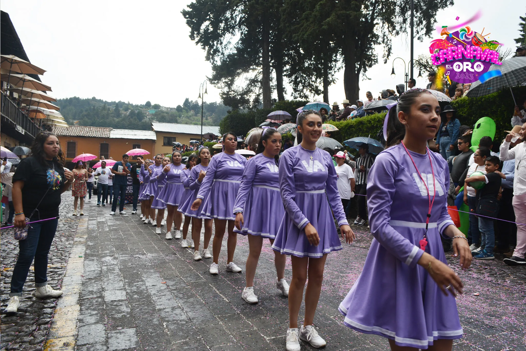
<path fill-rule="evenodd" d="M 246 287 L 241 297 L 249 304 L 258 302 L 254 294 L 254 276 L 258 266 L 263 238 L 269 238 L 270 245 L 278 232 L 285 213 L 279 192 L 278 155 L 281 149 L 281 133 L 276 128 L 266 128 L 261 132 L 257 155 L 245 165 L 237 193 L 234 213 L 235 232 L 248 235 L 249 253 L 246 264 Z M 274 263 L 278 280 L 276 287 L 284 296 L 289 295 L 289 285 L 285 280 L 285 261 L 287 256 L 274 252 Z"/>

